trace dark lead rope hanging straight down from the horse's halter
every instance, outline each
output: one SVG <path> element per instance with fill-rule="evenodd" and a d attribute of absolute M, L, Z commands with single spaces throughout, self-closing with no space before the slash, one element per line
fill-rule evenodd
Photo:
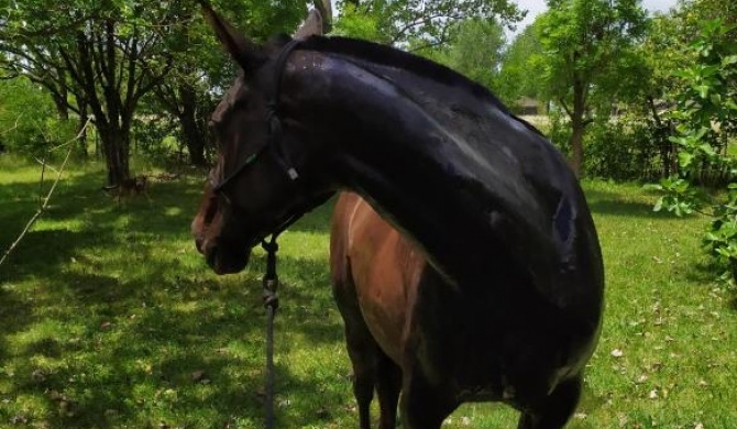
<path fill-rule="evenodd" d="M 263 240 L 261 246 L 266 251 L 266 274 L 262 280 L 264 287 L 263 301 L 266 308 L 266 429 L 274 428 L 274 316 L 279 307 L 276 288 L 279 278 L 276 275 L 277 234 L 270 241 Z"/>

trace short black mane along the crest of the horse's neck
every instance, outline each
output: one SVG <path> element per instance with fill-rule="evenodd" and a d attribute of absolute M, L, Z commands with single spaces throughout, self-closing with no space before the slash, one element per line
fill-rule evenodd
<path fill-rule="evenodd" d="M 349 56 L 380 66 L 400 68 L 439 84 L 462 88 L 475 97 L 490 101 L 505 114 L 521 122 L 537 134 L 542 135 L 540 131 L 530 123 L 509 111 L 509 109 L 504 106 L 491 90 L 460 73 L 430 59 L 391 46 L 340 36 L 312 36 L 307 38 L 302 46 L 321 53 Z"/>

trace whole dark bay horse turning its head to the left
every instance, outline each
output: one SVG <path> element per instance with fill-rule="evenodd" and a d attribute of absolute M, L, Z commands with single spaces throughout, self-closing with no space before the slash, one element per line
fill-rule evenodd
<path fill-rule="evenodd" d="M 397 402 L 404 428 L 435 429 L 481 400 L 519 410 L 520 429 L 562 428 L 604 306 L 596 229 L 564 157 L 443 66 L 323 37 L 316 19 L 295 37 L 256 44 L 201 3 L 240 69 L 212 113 L 220 153 L 191 224 L 208 265 L 242 271 L 265 237 L 353 191 L 366 202 L 349 210 L 355 197 L 340 199 L 355 217 L 333 228 L 331 257 L 342 258 L 334 290 L 361 428 L 373 386 L 382 428 Z M 351 243 L 366 204 L 398 232 L 366 229 Z M 389 249 L 384 234 L 405 243 L 384 261 L 403 270 L 370 274 Z M 372 276 L 386 284 L 363 285 Z"/>

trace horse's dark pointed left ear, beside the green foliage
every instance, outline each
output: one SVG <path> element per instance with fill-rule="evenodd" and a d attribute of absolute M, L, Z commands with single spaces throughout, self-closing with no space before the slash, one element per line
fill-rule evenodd
<path fill-rule="evenodd" d="M 216 13 L 206 0 L 199 0 L 199 3 L 202 7 L 205 19 L 215 30 L 218 40 L 246 75 L 264 64 L 266 58 L 260 46 L 249 41 L 241 32 Z"/>

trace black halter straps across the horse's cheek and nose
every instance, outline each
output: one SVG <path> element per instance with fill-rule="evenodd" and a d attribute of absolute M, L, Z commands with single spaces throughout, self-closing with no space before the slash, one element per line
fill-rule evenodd
<path fill-rule="evenodd" d="M 253 163 L 261 156 L 261 154 L 266 148 L 272 148 L 273 151 L 275 151 L 276 162 L 279 164 L 279 166 L 284 169 L 286 175 L 292 180 L 297 180 L 299 178 L 299 174 L 292 165 L 288 155 L 284 152 L 282 147 L 282 139 L 284 136 L 284 132 L 282 128 L 282 120 L 279 118 L 278 101 L 279 101 L 279 95 L 282 92 L 282 76 L 284 75 L 284 68 L 286 62 L 289 58 L 292 52 L 295 51 L 300 43 L 301 41 L 299 40 L 289 41 L 286 45 L 284 45 L 282 51 L 279 52 L 279 56 L 276 58 L 276 63 L 274 64 L 276 75 L 274 76 L 274 86 L 272 88 L 271 99 L 268 101 L 268 105 L 266 106 L 266 123 L 268 130 L 266 133 L 265 144 L 258 147 L 258 150 L 253 154 L 246 156 L 246 158 L 243 160 L 243 162 L 238 166 L 238 168 L 235 168 L 233 173 L 228 175 L 220 183 L 217 183 L 215 180 L 215 177 L 210 177 L 210 185 L 212 186 L 212 190 L 215 193 L 222 194 L 222 189 L 226 186 L 228 186 L 228 184 L 233 182 L 237 177 L 239 177 L 243 172 L 245 172 L 249 166 L 253 165 Z"/>

